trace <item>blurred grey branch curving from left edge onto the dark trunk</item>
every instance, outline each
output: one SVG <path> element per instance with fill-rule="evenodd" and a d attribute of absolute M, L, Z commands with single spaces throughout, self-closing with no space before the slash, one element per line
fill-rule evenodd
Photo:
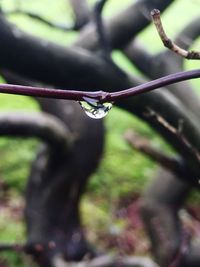
<path fill-rule="evenodd" d="M 45 113 L 0 113 L 0 136 L 37 137 L 66 152 L 71 133 L 58 118 Z"/>

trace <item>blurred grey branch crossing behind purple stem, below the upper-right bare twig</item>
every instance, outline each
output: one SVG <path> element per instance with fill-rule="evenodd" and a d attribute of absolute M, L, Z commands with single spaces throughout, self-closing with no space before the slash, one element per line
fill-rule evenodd
<path fill-rule="evenodd" d="M 187 38 L 187 35 L 185 36 Z M 181 36 L 178 35 L 177 38 L 181 38 Z M 124 53 L 150 79 L 156 79 L 184 69 L 182 57 L 171 53 L 169 50 L 154 56 L 148 53 L 137 41 L 133 41 L 126 47 Z M 176 96 L 186 108 L 193 112 L 194 116 L 200 116 L 200 98 L 197 92 L 193 90 L 191 83 L 176 83 L 167 86 L 166 90 Z"/>

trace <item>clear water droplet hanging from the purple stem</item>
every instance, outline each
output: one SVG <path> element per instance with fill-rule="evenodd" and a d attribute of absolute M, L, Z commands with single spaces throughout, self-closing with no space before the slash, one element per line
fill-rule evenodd
<path fill-rule="evenodd" d="M 105 102 L 100 103 L 93 98 L 85 97 L 84 101 L 79 102 L 85 113 L 93 119 L 101 119 L 108 114 L 108 111 L 112 108 L 112 103 Z"/>

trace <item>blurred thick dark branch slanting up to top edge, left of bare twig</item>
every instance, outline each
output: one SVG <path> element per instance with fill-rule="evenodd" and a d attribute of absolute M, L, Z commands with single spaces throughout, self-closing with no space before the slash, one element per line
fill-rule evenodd
<path fill-rule="evenodd" d="M 164 11 L 174 0 L 142 0 L 128 6 L 120 14 L 105 21 L 105 33 L 112 48 L 121 48 L 151 22 L 150 11 L 156 6 Z M 98 50 L 94 25 L 88 25 L 75 42 L 76 46 Z"/>

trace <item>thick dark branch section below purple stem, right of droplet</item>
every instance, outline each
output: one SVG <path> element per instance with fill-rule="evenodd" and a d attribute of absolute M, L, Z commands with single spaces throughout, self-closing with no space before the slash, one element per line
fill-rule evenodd
<path fill-rule="evenodd" d="M 134 112 L 139 118 L 143 118 L 147 121 L 149 125 L 159 132 L 165 140 L 176 149 L 176 151 L 184 158 L 190 170 L 194 171 L 194 174 L 188 177 L 188 181 L 192 182 L 196 180 L 196 185 L 199 187 L 197 179 L 197 177 L 199 177 L 199 161 L 197 160 L 196 155 L 192 153 L 188 147 L 183 145 L 183 142 L 181 142 L 176 135 L 168 131 L 155 120 L 154 117 L 145 116 L 145 109 L 151 107 L 151 109 L 161 114 L 161 116 L 174 127 L 177 127 L 178 122 L 182 119 L 184 121 L 184 136 L 189 140 L 193 147 L 200 151 L 199 121 L 192 116 L 191 112 L 172 94 L 162 90 L 156 90 L 148 94 L 133 97 L 132 99 L 126 99 L 123 102 L 119 102 L 119 106 L 129 112 Z"/>

